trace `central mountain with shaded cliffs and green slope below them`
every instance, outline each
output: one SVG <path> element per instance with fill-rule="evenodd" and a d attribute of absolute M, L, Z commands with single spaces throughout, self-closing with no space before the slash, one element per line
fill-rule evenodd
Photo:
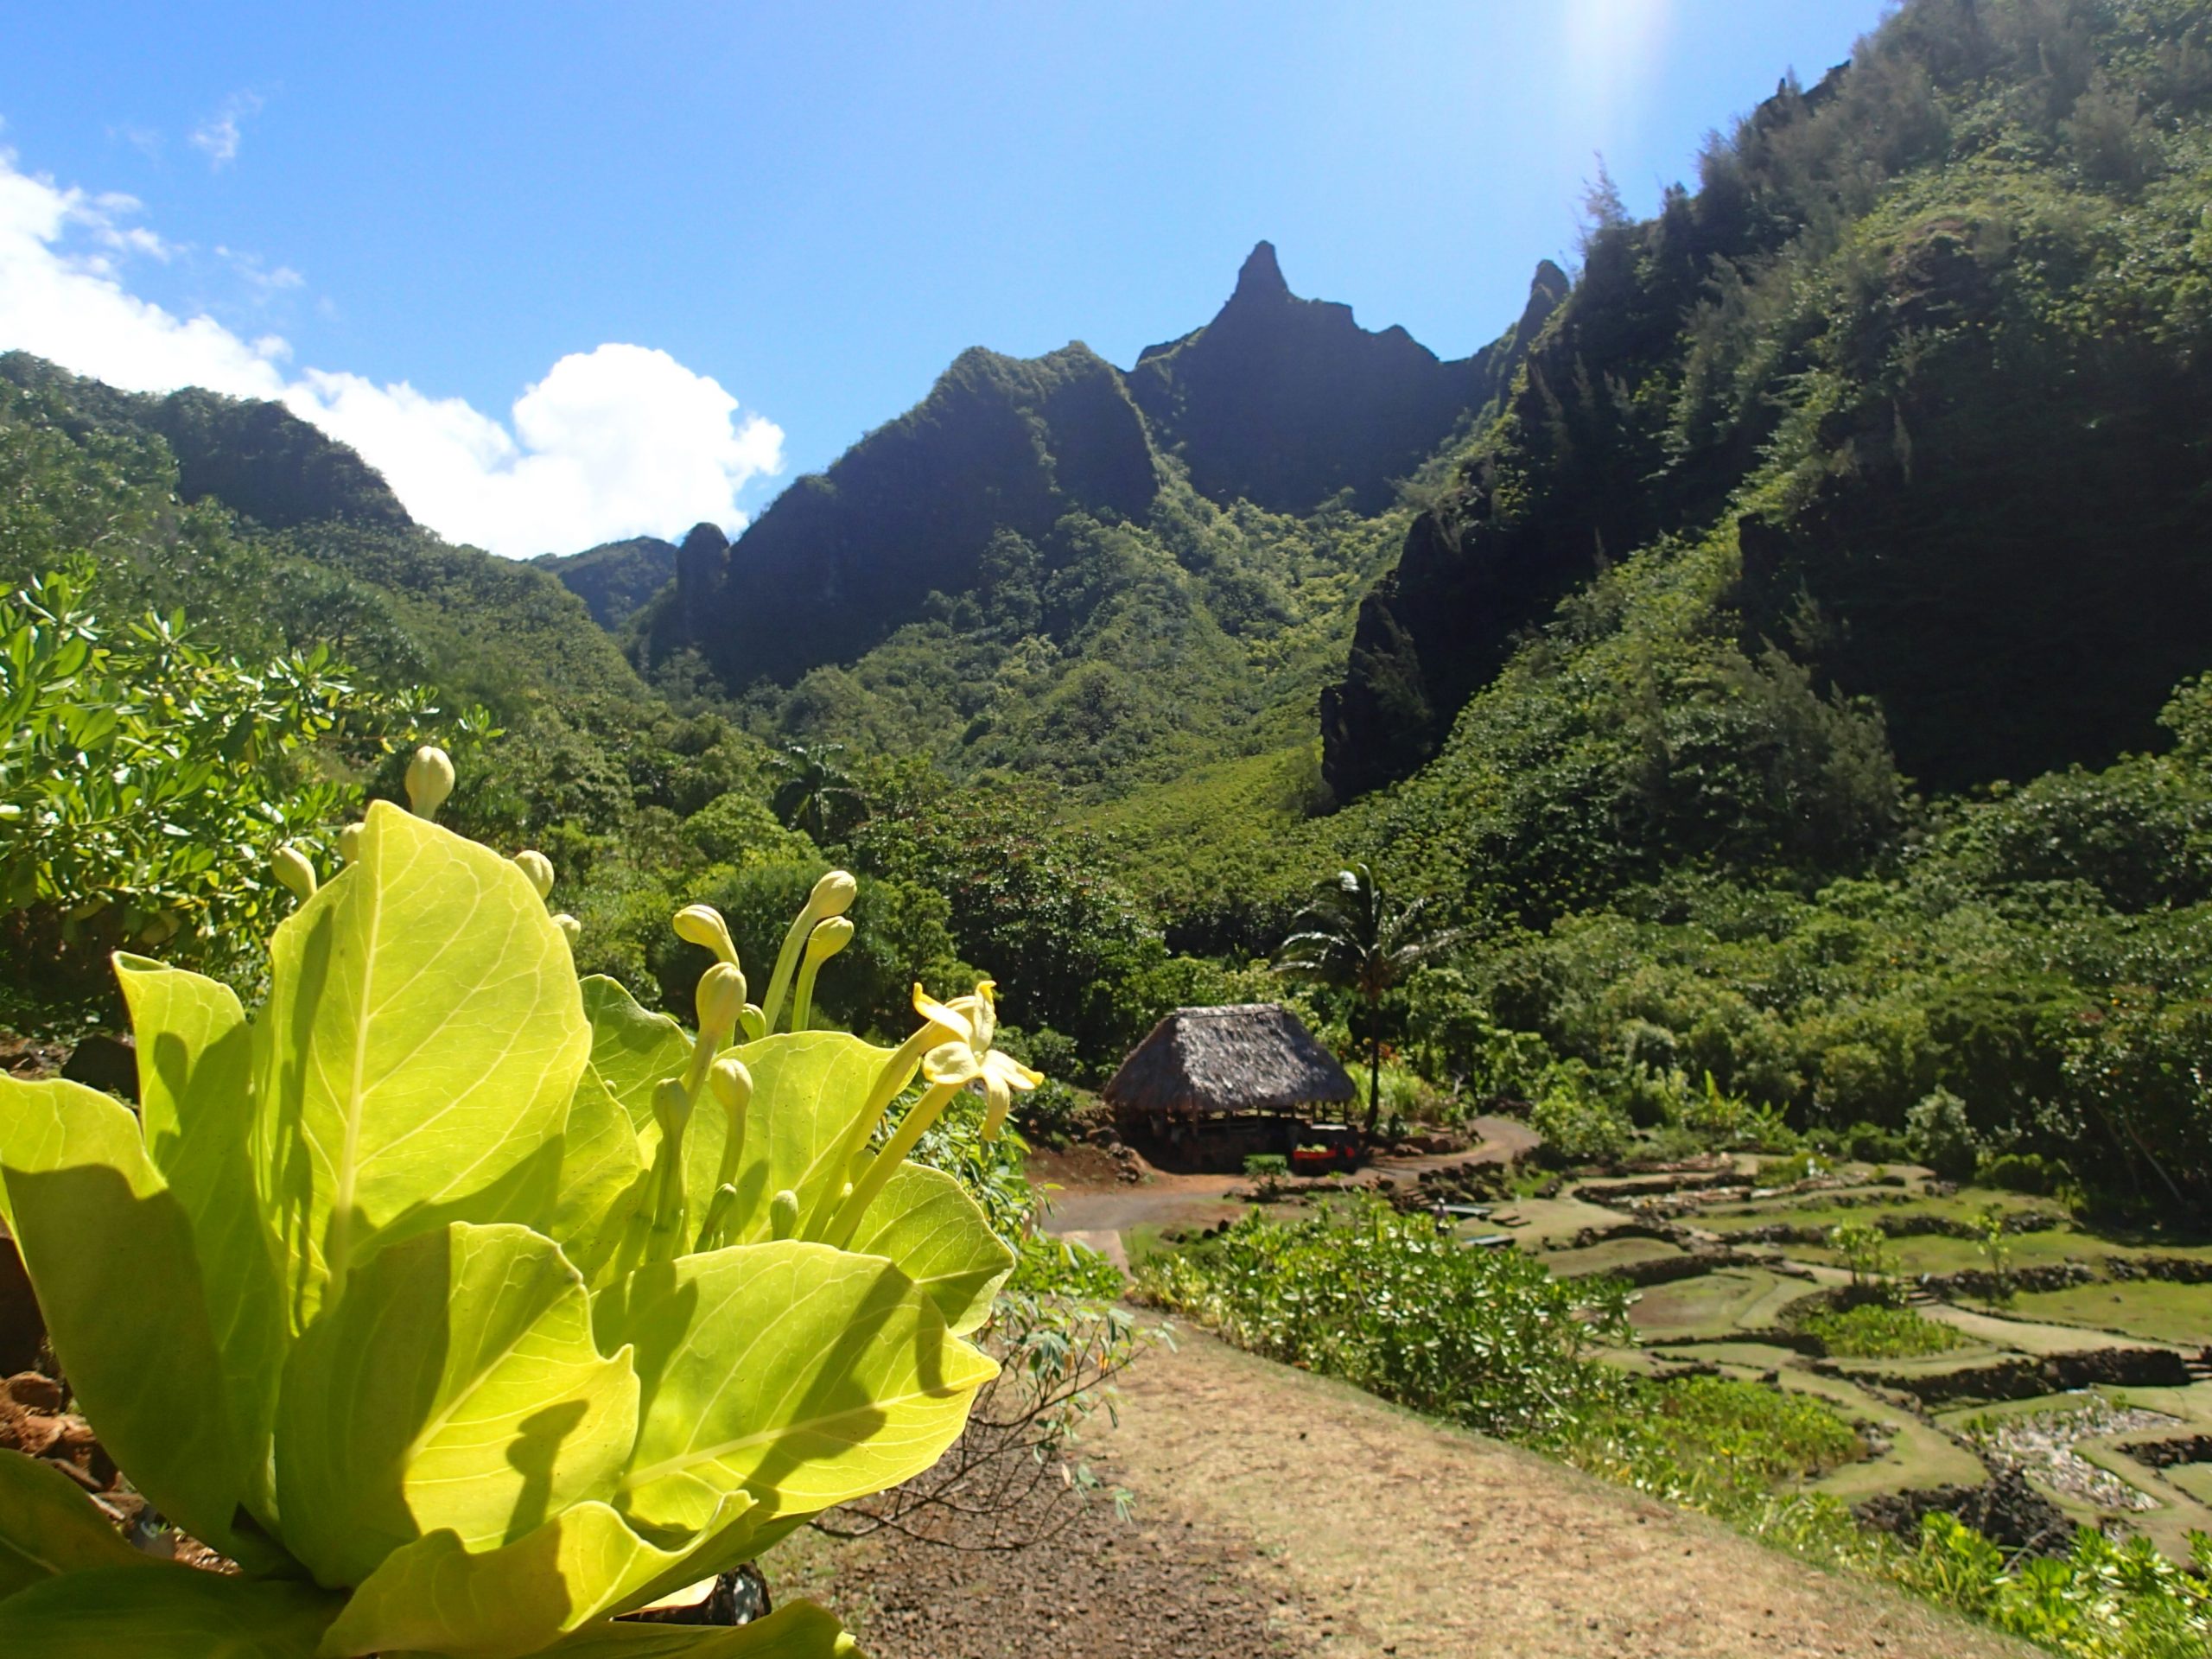
<path fill-rule="evenodd" d="M 686 538 L 644 619 L 670 686 L 763 730 L 922 748 L 1084 792 L 1303 743 L 1396 484 L 1464 447 L 1566 290 L 1440 363 L 1296 299 L 1261 243 L 1206 327 L 1126 376 L 973 349 L 734 546 Z"/>

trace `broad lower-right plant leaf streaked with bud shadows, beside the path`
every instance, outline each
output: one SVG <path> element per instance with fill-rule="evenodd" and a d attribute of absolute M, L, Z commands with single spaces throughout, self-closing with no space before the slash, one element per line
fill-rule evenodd
<path fill-rule="evenodd" d="M 896 1486 L 953 1442 L 998 1369 L 898 1267 L 814 1243 L 655 1263 L 597 1316 L 602 1343 L 637 1349 L 622 1506 L 646 1526 L 706 1526 L 730 1491 L 765 1522 Z"/>

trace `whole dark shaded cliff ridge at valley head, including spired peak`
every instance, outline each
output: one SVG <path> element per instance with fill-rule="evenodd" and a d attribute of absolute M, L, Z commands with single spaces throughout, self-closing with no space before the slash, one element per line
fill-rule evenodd
<path fill-rule="evenodd" d="M 1347 305 L 1296 299 L 1261 243 L 1212 323 L 1126 376 L 1084 345 L 1035 361 L 967 352 L 734 546 L 692 531 L 672 593 L 648 611 L 646 650 L 697 648 L 730 688 L 852 664 L 931 593 L 989 608 L 993 546 L 1042 546 L 1071 513 L 1144 522 L 1161 451 L 1221 507 L 1303 515 L 1349 491 L 1356 513 L 1374 513 L 1498 398 L 1566 288 L 1546 261 L 1498 343 L 1442 363 L 1405 330 L 1371 334 Z"/>

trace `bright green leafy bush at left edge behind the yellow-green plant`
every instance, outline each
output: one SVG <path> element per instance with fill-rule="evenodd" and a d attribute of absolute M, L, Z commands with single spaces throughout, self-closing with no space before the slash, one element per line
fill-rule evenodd
<path fill-rule="evenodd" d="M 0 1022 L 115 1024 L 108 953 L 254 984 L 288 900 L 279 847 L 327 852 L 361 776 L 434 721 L 427 692 L 369 692 L 323 646 L 250 666 L 177 617 L 108 626 L 91 566 L 0 599 Z"/>

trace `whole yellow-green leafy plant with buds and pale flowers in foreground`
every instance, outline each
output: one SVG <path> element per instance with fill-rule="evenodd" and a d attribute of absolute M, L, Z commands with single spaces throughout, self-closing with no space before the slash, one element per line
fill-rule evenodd
<path fill-rule="evenodd" d="M 834 872 L 761 1006 L 721 918 L 677 918 L 719 958 L 688 1033 L 577 980 L 544 858 L 431 823 L 442 759 L 336 874 L 285 860 L 303 898 L 254 1018 L 117 958 L 137 1117 L 0 1077 L 0 1219 L 77 1402 L 239 1566 L 133 1551 L 0 1453 L 0 1652 L 849 1652 L 805 1604 L 613 1617 L 929 1469 L 995 1369 L 964 1338 L 1013 1256 L 905 1161 L 969 1082 L 1037 1082 L 991 1051 L 989 987 L 916 987 L 896 1051 L 805 1029 L 849 938 Z"/>

